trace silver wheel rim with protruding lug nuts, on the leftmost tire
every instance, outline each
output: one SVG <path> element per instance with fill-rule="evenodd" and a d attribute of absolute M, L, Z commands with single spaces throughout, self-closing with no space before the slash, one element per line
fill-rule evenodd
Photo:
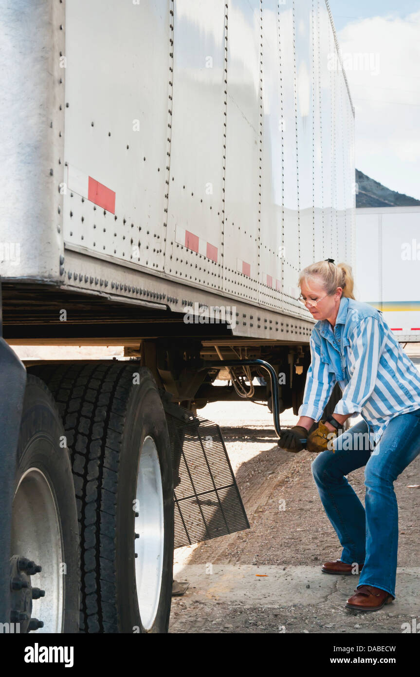
<path fill-rule="evenodd" d="M 41 565 L 31 577 L 32 586 L 45 590 L 45 597 L 32 600 L 31 617 L 43 621 L 35 632 L 62 632 L 64 563 L 62 532 L 57 504 L 47 477 L 39 468 L 22 475 L 13 502 L 11 552 Z"/>

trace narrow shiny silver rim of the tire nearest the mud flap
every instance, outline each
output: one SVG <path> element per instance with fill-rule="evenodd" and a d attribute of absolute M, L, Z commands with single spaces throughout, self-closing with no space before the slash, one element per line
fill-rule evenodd
<path fill-rule="evenodd" d="M 158 611 L 164 553 L 164 505 L 158 450 L 145 437 L 137 473 L 135 579 L 141 624 L 150 630 Z"/>

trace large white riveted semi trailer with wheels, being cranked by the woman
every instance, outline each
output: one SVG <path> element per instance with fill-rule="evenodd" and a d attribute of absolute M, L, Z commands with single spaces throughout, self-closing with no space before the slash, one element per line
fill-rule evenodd
<path fill-rule="evenodd" d="M 166 632 L 174 545 L 248 526 L 197 409 L 241 392 L 278 432 L 310 364 L 298 273 L 354 265 L 354 110 L 331 12 L 0 6 L 0 621 Z M 22 344 L 134 359 L 24 366 Z"/>

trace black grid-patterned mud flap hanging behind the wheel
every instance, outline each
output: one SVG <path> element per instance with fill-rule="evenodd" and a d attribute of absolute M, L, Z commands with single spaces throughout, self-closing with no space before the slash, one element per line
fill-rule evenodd
<path fill-rule="evenodd" d="M 174 548 L 249 529 L 218 425 L 166 405 L 174 468 Z"/>

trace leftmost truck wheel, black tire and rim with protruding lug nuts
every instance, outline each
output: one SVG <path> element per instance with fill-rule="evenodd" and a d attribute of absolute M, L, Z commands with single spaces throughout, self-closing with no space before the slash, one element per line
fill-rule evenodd
<path fill-rule="evenodd" d="M 20 622 L 20 632 L 78 632 L 79 566 L 62 421 L 46 385 L 28 375 L 11 519 L 11 621 Z"/>

